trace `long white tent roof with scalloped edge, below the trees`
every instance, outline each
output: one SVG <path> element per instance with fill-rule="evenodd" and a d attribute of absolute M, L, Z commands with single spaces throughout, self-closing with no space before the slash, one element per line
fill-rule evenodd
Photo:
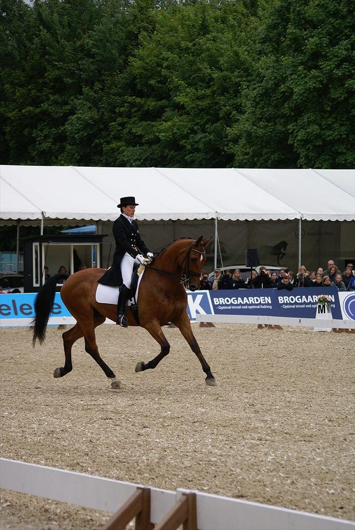
<path fill-rule="evenodd" d="M 355 218 L 355 170 L 0 166 L 0 218 L 113 220 L 135 195 L 147 220 Z"/>

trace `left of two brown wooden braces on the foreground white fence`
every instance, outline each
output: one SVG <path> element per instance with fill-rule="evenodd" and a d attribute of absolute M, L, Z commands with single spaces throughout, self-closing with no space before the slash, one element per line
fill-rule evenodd
<path fill-rule="evenodd" d="M 137 488 L 135 493 L 102 527 L 102 530 L 125 530 L 134 517 L 136 517 L 136 530 L 152 530 L 149 488 Z"/>

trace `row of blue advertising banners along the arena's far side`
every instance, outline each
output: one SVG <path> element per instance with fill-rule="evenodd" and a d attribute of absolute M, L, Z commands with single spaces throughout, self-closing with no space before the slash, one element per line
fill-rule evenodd
<path fill-rule="evenodd" d="M 355 293 L 338 293 L 333 287 L 286 289 L 235 289 L 218 291 L 188 291 L 187 312 L 191 322 L 196 315 L 254 315 L 284 316 L 314 319 L 317 297 L 331 298 L 333 319 L 355 318 Z M 36 293 L 0 294 L 0 325 L 28 326 L 34 317 Z M 108 321 L 108 323 L 112 321 Z M 75 319 L 56 293 L 49 325 L 72 324 Z"/>

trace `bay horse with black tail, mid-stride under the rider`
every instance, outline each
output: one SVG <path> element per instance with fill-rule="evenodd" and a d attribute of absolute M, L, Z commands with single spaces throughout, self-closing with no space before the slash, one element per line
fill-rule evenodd
<path fill-rule="evenodd" d="M 168 355 L 170 344 L 161 326 L 172 322 L 179 328 L 199 359 L 206 374 L 207 385 L 216 385 L 216 380 L 192 333 L 187 314 L 187 293 L 183 285 L 187 284 L 190 290 L 200 287 L 200 273 L 206 262 L 205 248 L 210 240 L 211 237 L 205 241 L 202 236 L 197 240 L 183 237 L 168 245 L 157 255 L 152 264 L 145 267 L 138 293 L 139 321 L 140 326 L 159 343 L 161 351 L 148 363 L 140 361 L 135 368 L 136 372 L 155 368 Z M 101 304 L 95 299 L 97 280 L 104 272 L 104 269 L 85 269 L 75 272 L 72 276 L 59 273 L 46 281 L 34 301 L 36 316 L 31 323 L 32 345 L 34 347 L 37 339 L 41 344 L 45 341 L 48 319 L 54 305 L 56 284 L 59 279 L 66 278 L 60 295 L 68 311 L 76 319 L 76 324 L 62 335 L 65 364 L 55 369 L 54 377 L 63 377 L 72 371 L 72 346 L 74 342 L 84 337 L 85 351 L 103 369 L 106 377 L 111 381 L 112 388 L 123 388 L 124 385 L 101 358 L 95 339 L 95 328 L 102 324 L 106 317 L 116 321 L 116 304 Z M 129 307 L 127 317 L 130 326 L 138 325 Z"/>

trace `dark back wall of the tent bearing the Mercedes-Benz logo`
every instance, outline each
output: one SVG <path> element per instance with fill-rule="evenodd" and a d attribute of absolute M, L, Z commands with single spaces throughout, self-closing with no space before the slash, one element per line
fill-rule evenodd
<path fill-rule="evenodd" d="M 205 269 L 210 272 L 214 267 L 214 220 L 194 221 L 140 221 L 140 234 L 145 243 L 153 251 L 164 248 L 168 243 L 179 237 L 200 235 L 212 241 L 207 248 Z M 111 257 L 114 250 L 112 223 L 99 223 L 101 234 L 110 234 L 103 240 L 103 266 L 108 264 L 110 242 Z M 304 221 L 302 223 L 301 262 L 307 269 L 314 270 L 325 267 L 329 259 L 333 259 L 342 269 L 345 260 L 355 259 L 355 222 L 347 221 Z M 261 264 L 278 264 L 278 245 L 285 241 L 286 248 L 279 254 L 280 266 L 297 271 L 298 266 L 298 219 L 282 221 L 218 221 L 218 237 L 221 257 L 224 266 L 243 264 L 245 249 L 256 248 Z M 280 249 L 283 245 L 280 245 Z M 221 265 L 218 251 L 218 266 Z M 343 269 L 342 269 L 343 270 Z"/>

